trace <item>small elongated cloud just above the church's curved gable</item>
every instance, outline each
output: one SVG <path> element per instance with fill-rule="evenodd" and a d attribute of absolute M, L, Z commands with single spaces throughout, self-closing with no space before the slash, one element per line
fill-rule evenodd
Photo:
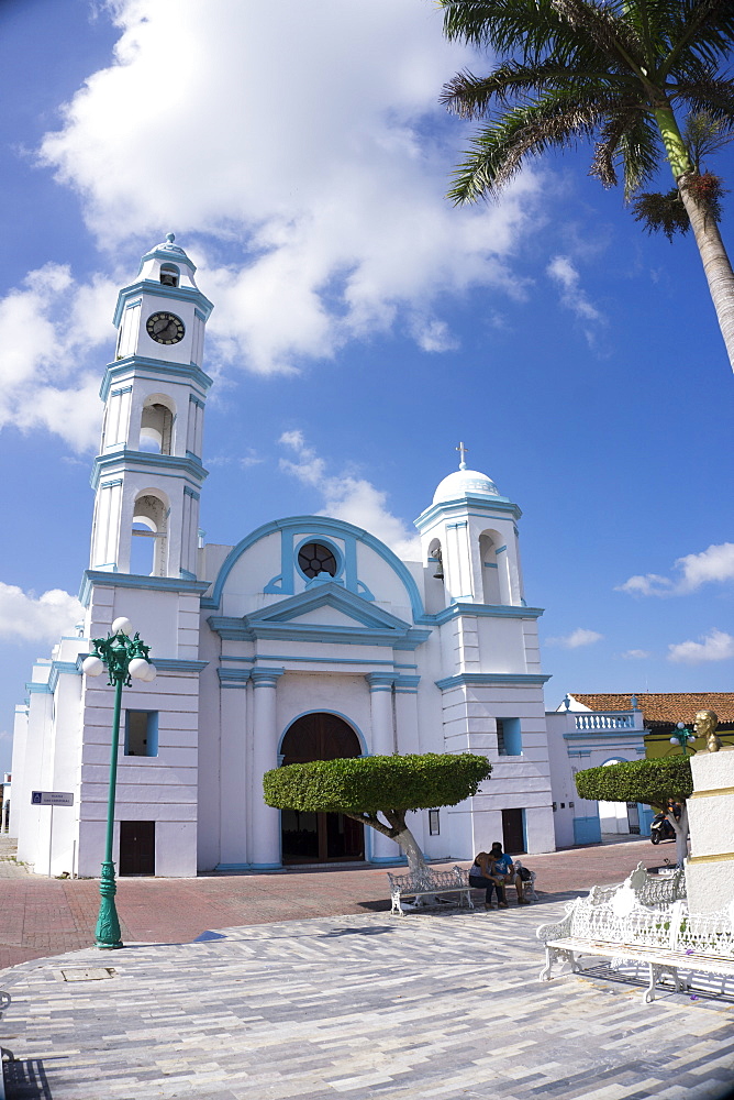
<path fill-rule="evenodd" d="M 278 442 L 296 455 L 296 461 L 281 459 L 280 469 L 303 484 L 312 485 L 323 497 L 324 507 L 318 515 L 363 527 L 386 542 L 399 558 L 420 560 L 420 539 L 388 509 L 386 492 L 351 473 L 330 474 L 325 460 L 308 446 L 300 431 L 286 431 Z"/>

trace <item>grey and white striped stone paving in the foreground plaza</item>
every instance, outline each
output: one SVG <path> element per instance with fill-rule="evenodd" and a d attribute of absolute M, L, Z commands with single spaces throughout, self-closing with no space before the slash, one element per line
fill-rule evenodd
<path fill-rule="evenodd" d="M 1 982 L 9 1098 L 725 1094 L 734 998 L 645 1005 L 603 967 L 540 983 L 535 928 L 561 911 L 320 917 L 22 964 Z"/>

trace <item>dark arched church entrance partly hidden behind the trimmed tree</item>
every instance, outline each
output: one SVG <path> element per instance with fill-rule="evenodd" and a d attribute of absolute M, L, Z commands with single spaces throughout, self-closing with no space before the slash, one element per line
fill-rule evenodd
<path fill-rule="evenodd" d="M 304 714 L 282 739 L 282 762 L 336 760 L 362 756 L 352 726 L 336 714 Z M 365 828 L 344 814 L 283 810 L 280 814 L 283 864 L 329 864 L 365 858 Z"/>

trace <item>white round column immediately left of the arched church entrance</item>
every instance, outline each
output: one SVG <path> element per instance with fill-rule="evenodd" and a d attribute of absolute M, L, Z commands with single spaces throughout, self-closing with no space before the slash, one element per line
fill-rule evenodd
<path fill-rule="evenodd" d="M 276 685 L 285 669 L 253 669 L 253 868 L 280 867 L 280 811 L 265 804 L 263 776 L 278 767 Z"/>

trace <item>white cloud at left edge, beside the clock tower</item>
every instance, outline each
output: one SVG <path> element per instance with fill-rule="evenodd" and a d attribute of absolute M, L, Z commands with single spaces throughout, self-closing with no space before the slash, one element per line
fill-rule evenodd
<path fill-rule="evenodd" d="M 111 344 L 114 296 L 102 276 L 80 284 L 48 263 L 0 299 L 0 428 L 45 428 L 75 451 L 97 443 L 101 370 L 90 358 Z"/>

